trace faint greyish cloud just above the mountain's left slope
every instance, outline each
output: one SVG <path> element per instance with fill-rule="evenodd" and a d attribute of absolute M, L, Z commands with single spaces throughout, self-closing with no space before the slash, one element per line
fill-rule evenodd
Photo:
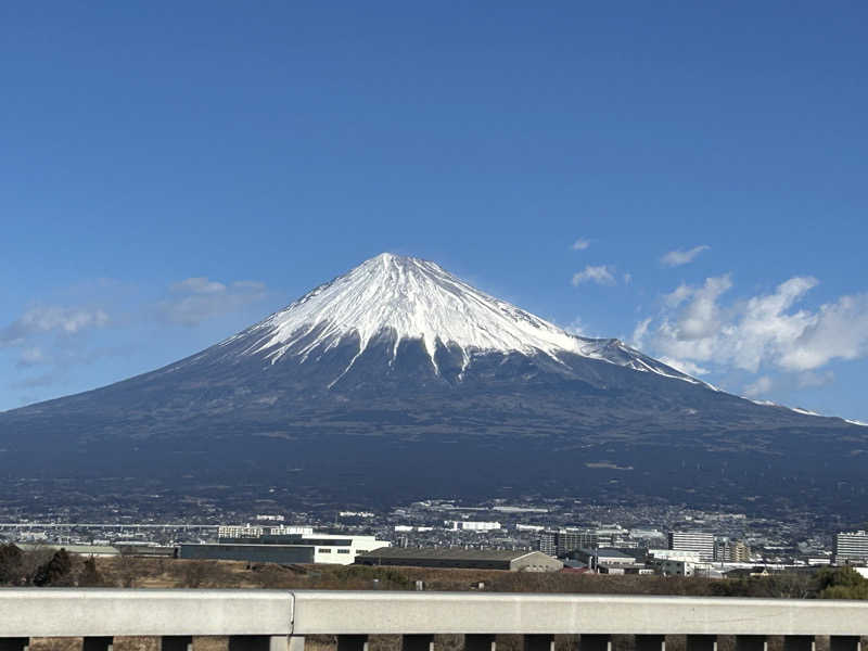
<path fill-rule="evenodd" d="M 164 319 L 181 326 L 197 326 L 230 314 L 266 294 L 261 282 L 241 280 L 227 285 L 203 277 L 176 282 L 169 290 L 171 296 L 159 303 L 157 309 Z"/>

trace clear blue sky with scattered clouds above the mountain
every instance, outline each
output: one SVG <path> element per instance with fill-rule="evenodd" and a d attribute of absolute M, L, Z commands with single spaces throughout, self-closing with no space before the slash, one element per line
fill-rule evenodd
<path fill-rule="evenodd" d="M 855 1 L 0 8 L 0 409 L 392 251 L 868 421 L 867 23 Z"/>

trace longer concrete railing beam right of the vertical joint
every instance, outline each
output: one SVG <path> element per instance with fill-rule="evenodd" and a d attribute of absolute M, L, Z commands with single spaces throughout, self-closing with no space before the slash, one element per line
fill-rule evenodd
<path fill-rule="evenodd" d="M 296 591 L 312 634 L 868 635 L 868 602 L 490 592 Z"/>

